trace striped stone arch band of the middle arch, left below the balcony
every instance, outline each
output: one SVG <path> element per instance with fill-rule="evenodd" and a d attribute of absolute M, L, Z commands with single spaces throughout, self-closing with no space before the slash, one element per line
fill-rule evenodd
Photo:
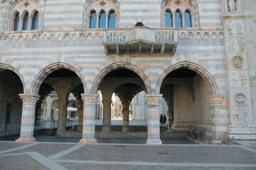
<path fill-rule="evenodd" d="M 102 69 L 100 74 L 97 75 L 95 78 L 95 81 L 93 81 L 92 84 L 92 94 L 97 94 L 97 89 L 100 85 L 100 82 L 102 79 L 110 72 L 114 71 L 115 69 L 129 69 L 132 72 L 136 73 L 144 82 L 144 85 L 146 86 L 146 94 L 151 94 L 151 86 L 149 83 L 149 79 L 146 77 L 146 74 L 142 72 L 141 69 L 139 69 L 137 66 L 130 64 L 128 62 L 116 62 L 114 64 L 110 64 L 109 66 L 105 67 L 105 69 Z"/>

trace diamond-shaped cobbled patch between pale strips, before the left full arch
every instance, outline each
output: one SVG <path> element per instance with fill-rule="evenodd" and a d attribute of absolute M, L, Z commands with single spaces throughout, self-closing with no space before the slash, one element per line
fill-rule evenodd
<path fill-rule="evenodd" d="M 65 149 L 75 146 L 75 144 L 61 144 L 58 143 L 38 143 L 33 147 L 28 147 L 25 149 L 19 149 L 18 151 L 9 152 L 9 153 L 21 153 L 21 152 L 38 152 L 39 154 L 43 154 L 45 157 L 49 157 L 50 155 L 57 154 L 58 152 L 62 152 Z"/>

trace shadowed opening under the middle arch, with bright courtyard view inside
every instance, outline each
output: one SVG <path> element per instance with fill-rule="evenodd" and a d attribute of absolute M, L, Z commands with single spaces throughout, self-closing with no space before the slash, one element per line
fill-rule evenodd
<path fill-rule="evenodd" d="M 103 119 L 102 128 L 96 128 L 97 131 L 101 131 L 96 133 L 96 137 L 122 138 L 123 135 L 116 132 L 124 132 L 125 135 L 140 132 L 137 136 L 145 138 L 147 128 L 142 132 L 142 129 L 134 128 L 135 124 L 129 125 L 129 121 L 132 121 L 132 98 L 140 91 L 146 91 L 144 81 L 139 75 L 125 68 L 114 69 L 105 74 L 98 90 L 102 94 Z M 144 111 L 143 114 L 146 113 Z M 143 121 L 142 125 L 145 125 L 146 120 Z"/>

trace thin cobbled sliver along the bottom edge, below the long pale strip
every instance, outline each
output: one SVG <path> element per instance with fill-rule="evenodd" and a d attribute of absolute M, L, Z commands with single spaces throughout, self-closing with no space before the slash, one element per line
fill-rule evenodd
<path fill-rule="evenodd" d="M 191 166 L 146 166 L 146 165 L 114 165 L 114 164 L 70 164 L 60 163 L 70 170 L 255 170 L 247 167 L 191 167 Z"/>

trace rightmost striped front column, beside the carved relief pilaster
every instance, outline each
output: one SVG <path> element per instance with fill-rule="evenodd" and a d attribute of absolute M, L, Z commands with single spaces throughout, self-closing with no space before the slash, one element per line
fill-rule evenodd
<path fill-rule="evenodd" d="M 212 110 L 212 126 L 213 126 L 213 144 L 220 144 L 221 140 L 223 140 L 223 136 L 225 135 L 226 129 L 222 130 L 220 121 L 220 109 L 222 106 L 222 95 L 210 95 L 208 96 L 210 100 L 210 106 Z"/>

